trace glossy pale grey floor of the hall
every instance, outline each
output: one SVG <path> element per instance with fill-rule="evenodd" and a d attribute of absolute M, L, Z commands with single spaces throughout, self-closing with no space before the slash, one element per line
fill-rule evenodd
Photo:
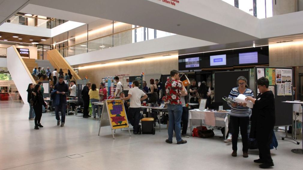
<path fill-rule="evenodd" d="M 66 116 L 65 126 L 59 127 L 55 116 L 43 113 L 44 127 L 35 130 L 28 110 L 25 104 L 0 101 L 0 170 L 258 168 L 253 162 L 258 155 L 242 157 L 240 140 L 238 157 L 232 157 L 231 143 L 224 143 L 219 131 L 210 139 L 190 137 L 184 145 L 177 145 L 175 139 L 173 144 L 165 143 L 166 126 L 161 126 L 161 132 L 157 129 L 155 135 L 130 137 L 118 130 L 113 140 L 109 127 L 102 127 L 98 136 L 98 120 L 74 115 Z M 271 150 L 274 168 L 302 169 L 303 155 L 291 152 L 301 145 L 278 142 L 278 149 Z M 75 154 L 81 157 L 67 157 Z"/>

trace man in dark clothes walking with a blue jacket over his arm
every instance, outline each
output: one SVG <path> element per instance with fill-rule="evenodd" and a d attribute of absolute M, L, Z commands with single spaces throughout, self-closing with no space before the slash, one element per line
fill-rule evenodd
<path fill-rule="evenodd" d="M 60 125 L 59 110 L 61 110 L 61 127 L 65 124 L 65 110 L 66 110 L 66 96 L 68 96 L 68 85 L 63 81 L 63 76 L 59 76 L 59 82 L 55 85 L 54 90 L 57 90 L 57 94 L 60 96 L 60 102 L 58 106 L 55 106 L 55 114 L 57 119 L 57 126 Z"/>

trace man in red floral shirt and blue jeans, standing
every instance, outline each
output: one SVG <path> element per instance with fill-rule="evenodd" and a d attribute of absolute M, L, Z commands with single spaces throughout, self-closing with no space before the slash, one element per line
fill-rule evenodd
<path fill-rule="evenodd" d="M 182 117 L 182 103 L 180 101 L 180 93 L 185 93 L 185 87 L 183 83 L 178 80 L 179 72 L 177 70 L 171 70 L 171 78 L 165 83 L 166 100 L 168 109 L 168 139 L 167 143 L 172 143 L 172 136 L 175 129 L 177 144 L 187 143 L 186 140 L 181 138 L 181 117 Z M 174 128 L 175 127 L 175 128 Z"/>

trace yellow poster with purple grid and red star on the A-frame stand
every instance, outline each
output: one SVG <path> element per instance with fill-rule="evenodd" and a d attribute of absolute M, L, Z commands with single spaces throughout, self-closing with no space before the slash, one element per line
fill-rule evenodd
<path fill-rule="evenodd" d="M 123 101 L 118 100 L 105 100 L 108 115 L 112 129 L 121 129 L 128 127 L 128 121 L 125 113 Z"/>

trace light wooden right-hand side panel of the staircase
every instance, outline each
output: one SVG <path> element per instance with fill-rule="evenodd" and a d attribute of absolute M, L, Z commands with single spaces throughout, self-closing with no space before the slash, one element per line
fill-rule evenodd
<path fill-rule="evenodd" d="M 80 76 L 75 72 L 75 70 L 68 64 L 68 62 L 62 57 L 62 55 L 59 53 L 57 49 L 50 50 L 47 52 L 47 59 L 50 61 L 50 63 L 53 65 L 54 68 L 57 68 L 57 72 L 59 73 L 60 68 L 62 68 L 62 71 L 67 73 L 67 70 L 71 71 L 72 74 L 72 80 L 81 80 Z M 58 77 L 57 77 L 58 78 Z"/>

